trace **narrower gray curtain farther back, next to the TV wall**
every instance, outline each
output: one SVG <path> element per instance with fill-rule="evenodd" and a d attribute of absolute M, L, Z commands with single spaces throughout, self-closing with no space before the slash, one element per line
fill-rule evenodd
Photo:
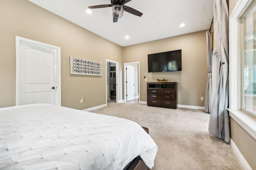
<path fill-rule="evenodd" d="M 206 32 L 207 43 L 207 65 L 208 65 L 208 79 L 206 84 L 205 98 L 204 98 L 204 111 L 212 112 L 212 46 L 210 41 L 210 32 Z"/>

